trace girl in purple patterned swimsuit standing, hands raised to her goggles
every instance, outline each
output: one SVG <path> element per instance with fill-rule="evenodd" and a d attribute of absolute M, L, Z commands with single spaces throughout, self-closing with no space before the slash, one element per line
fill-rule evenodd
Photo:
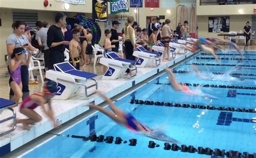
<path fill-rule="evenodd" d="M 10 79 L 9 85 L 14 91 L 14 96 L 11 100 L 16 102 L 18 105 L 19 99 L 22 97 L 22 78 L 21 78 L 21 66 L 22 64 L 28 66 L 31 58 L 31 53 L 28 54 L 28 60 L 24 60 L 26 50 L 22 47 L 15 48 L 14 53 L 11 55 L 11 60 L 9 61 Z"/>

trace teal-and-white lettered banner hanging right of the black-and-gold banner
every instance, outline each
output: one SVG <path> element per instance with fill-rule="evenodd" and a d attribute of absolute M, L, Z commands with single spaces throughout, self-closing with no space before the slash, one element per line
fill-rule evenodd
<path fill-rule="evenodd" d="M 120 12 L 129 12 L 128 0 L 111 0 L 110 14 L 115 15 Z"/>

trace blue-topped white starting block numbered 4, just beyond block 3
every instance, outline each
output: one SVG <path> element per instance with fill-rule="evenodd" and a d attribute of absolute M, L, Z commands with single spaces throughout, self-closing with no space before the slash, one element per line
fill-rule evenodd
<path fill-rule="evenodd" d="M 137 47 L 137 51 L 134 51 L 133 56 L 138 58 L 136 66 L 140 68 L 146 67 L 152 60 L 155 61 L 156 66 L 160 64 L 161 53 L 147 51 L 144 47 Z"/>

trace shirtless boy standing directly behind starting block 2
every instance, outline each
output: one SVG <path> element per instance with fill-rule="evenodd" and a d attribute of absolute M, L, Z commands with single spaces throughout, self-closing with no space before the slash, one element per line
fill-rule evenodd
<path fill-rule="evenodd" d="M 73 39 L 69 42 L 69 62 L 72 63 L 73 67 L 75 67 L 77 70 L 80 70 L 79 53 L 81 52 L 81 47 L 78 42 L 80 33 L 78 30 L 74 29 L 72 30 L 72 34 Z"/>

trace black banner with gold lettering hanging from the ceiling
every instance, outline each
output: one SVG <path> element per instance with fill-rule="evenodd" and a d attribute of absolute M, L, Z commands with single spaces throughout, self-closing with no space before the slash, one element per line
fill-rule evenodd
<path fill-rule="evenodd" d="M 92 18 L 95 21 L 107 21 L 107 1 L 92 1 Z"/>

